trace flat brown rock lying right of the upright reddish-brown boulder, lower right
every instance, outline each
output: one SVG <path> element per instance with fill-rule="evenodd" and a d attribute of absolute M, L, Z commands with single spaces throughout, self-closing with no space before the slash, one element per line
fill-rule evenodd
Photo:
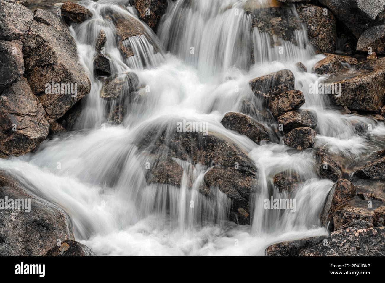
<path fill-rule="evenodd" d="M 336 210 L 333 215 L 334 230 L 340 230 L 353 219 L 361 219 L 372 223 L 373 211 L 358 207 L 345 207 L 341 210 Z"/>

